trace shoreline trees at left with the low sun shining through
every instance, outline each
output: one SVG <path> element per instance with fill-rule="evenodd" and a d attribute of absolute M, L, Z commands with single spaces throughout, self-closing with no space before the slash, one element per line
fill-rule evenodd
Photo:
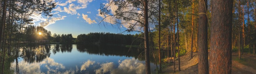
<path fill-rule="evenodd" d="M 41 35 L 39 34 L 41 33 Z M 72 43 L 75 41 L 72 34 L 51 34 L 51 31 L 46 30 L 41 26 L 28 25 L 24 28 L 24 33 L 21 41 L 25 43 Z M 15 37 L 17 38 L 20 37 Z"/>

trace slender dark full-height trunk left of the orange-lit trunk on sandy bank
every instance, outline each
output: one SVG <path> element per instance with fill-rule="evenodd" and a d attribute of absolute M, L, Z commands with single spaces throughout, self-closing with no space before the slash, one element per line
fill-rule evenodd
<path fill-rule="evenodd" d="M 177 18 L 177 39 L 178 39 L 178 64 L 179 64 L 179 67 L 178 67 L 178 70 L 180 71 L 180 47 L 179 47 L 179 21 L 178 21 L 178 4 L 177 4 L 177 0 L 176 0 L 176 18 Z"/>

